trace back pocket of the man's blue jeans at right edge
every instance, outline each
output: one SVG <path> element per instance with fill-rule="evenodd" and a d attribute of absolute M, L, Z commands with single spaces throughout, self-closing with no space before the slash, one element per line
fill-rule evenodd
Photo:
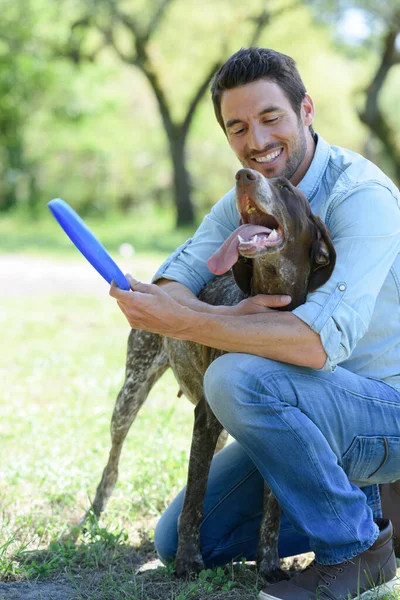
<path fill-rule="evenodd" d="M 350 481 L 370 485 L 400 479 L 400 436 L 356 436 L 342 458 Z"/>

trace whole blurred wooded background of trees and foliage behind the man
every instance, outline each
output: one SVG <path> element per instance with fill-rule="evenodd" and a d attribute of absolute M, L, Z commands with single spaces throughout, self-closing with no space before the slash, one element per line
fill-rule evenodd
<path fill-rule="evenodd" d="M 315 129 L 400 181 L 399 0 L 0 0 L 0 215 L 175 212 L 192 225 L 237 160 L 209 83 L 242 46 L 293 56 Z"/>

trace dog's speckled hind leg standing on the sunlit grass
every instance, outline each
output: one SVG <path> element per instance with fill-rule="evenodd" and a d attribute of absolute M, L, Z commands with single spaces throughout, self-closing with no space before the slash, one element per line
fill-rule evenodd
<path fill-rule="evenodd" d="M 118 394 L 111 420 L 111 450 L 96 490 L 90 513 L 99 517 L 118 479 L 118 464 L 126 435 L 154 383 L 168 368 L 163 338 L 147 331 L 132 330 L 128 341 L 126 377 Z"/>

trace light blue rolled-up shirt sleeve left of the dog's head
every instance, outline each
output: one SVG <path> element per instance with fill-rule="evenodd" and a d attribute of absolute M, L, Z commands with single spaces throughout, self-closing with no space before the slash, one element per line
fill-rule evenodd
<path fill-rule="evenodd" d="M 196 296 L 215 275 L 207 267 L 210 258 L 240 222 L 235 190 L 230 190 L 204 217 L 193 238 L 173 252 L 154 275 L 152 282 L 171 279 L 182 283 Z"/>

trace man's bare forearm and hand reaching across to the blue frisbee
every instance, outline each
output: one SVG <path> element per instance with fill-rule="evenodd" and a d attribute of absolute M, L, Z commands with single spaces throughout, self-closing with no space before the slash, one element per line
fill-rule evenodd
<path fill-rule="evenodd" d="M 237 314 L 236 307 L 222 307 L 225 314 L 214 314 L 208 310 L 209 305 L 191 296 L 189 290 L 184 291 L 184 299 L 188 299 L 189 305 L 177 302 L 172 294 L 184 288 L 181 284 L 177 284 L 181 286 L 178 288 L 171 282 L 167 288 L 166 283 L 157 286 L 129 279 L 132 291 L 126 292 L 113 285 L 110 295 L 116 298 L 130 326 L 135 329 L 315 369 L 325 364 L 327 356 L 318 334 L 291 312 L 271 310 L 268 307 L 270 296 L 261 296 L 263 305 L 258 304 L 254 314 Z M 204 305 L 207 311 L 196 310 L 190 304 L 197 308 Z"/>

